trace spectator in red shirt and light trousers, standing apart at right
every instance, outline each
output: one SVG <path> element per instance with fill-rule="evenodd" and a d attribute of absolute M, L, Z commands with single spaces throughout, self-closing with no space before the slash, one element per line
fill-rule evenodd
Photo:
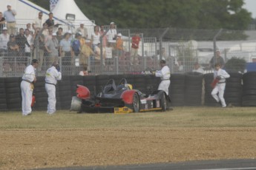
<path fill-rule="evenodd" d="M 131 58 L 130 58 L 131 65 L 132 64 L 139 64 L 138 63 L 138 61 L 139 61 L 138 60 L 139 44 L 140 44 L 140 35 L 139 35 L 139 33 L 136 33 L 131 38 Z"/>

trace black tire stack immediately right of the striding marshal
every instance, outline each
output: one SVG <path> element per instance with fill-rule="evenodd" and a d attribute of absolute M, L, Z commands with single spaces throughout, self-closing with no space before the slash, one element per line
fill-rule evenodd
<path fill-rule="evenodd" d="M 229 75 L 230 78 L 226 78 L 226 89 L 224 93 L 226 104 L 241 106 L 243 75 L 238 72 L 229 72 Z"/>

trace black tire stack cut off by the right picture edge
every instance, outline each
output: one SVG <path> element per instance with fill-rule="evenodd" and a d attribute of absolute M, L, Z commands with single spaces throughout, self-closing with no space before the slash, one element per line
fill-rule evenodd
<path fill-rule="evenodd" d="M 256 72 L 243 75 L 243 106 L 256 106 Z"/>

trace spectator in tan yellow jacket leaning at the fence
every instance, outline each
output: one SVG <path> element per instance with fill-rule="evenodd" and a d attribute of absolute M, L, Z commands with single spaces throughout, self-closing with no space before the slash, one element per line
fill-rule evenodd
<path fill-rule="evenodd" d="M 81 47 L 81 52 L 79 55 L 79 64 L 80 65 L 85 65 L 85 64 L 89 64 L 88 63 L 88 59 L 91 57 L 91 55 L 95 55 L 93 50 L 91 49 L 91 45 L 90 43 L 85 43 L 82 45 Z"/>

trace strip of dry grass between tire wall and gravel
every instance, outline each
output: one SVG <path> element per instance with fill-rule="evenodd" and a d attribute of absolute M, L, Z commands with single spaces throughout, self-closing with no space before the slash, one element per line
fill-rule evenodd
<path fill-rule="evenodd" d="M 256 127 L 254 107 L 174 107 L 170 112 L 140 112 L 125 115 L 77 114 L 59 110 L 55 115 L 33 112 L 0 112 L 0 129 L 58 129 L 114 127 Z"/>

